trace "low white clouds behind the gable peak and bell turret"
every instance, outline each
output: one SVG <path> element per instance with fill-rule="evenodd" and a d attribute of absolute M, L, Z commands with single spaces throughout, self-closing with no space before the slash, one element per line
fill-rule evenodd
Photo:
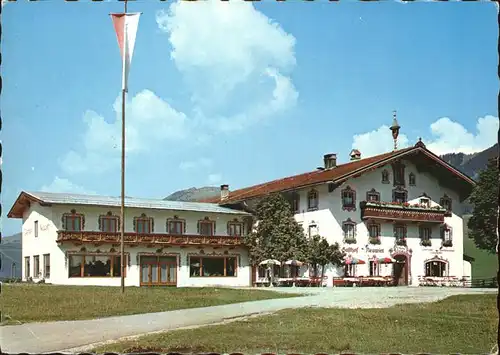
<path fill-rule="evenodd" d="M 498 117 L 480 117 L 476 123 L 476 132 L 469 132 L 458 122 L 442 117 L 429 127 L 430 136 L 422 137 L 425 145 L 432 152 L 441 155 L 446 153 L 476 153 L 491 147 L 497 141 Z M 398 137 L 398 147 L 408 147 L 417 142 L 419 137 L 409 139 L 404 133 Z M 372 156 L 393 149 L 393 140 L 388 126 L 377 130 L 358 134 L 353 137 L 352 147 L 359 149 L 362 156 Z"/>

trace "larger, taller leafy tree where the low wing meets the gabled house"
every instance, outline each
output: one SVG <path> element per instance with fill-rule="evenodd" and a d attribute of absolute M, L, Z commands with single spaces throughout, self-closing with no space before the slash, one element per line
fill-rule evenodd
<path fill-rule="evenodd" d="M 256 228 L 244 238 L 252 265 L 266 259 L 304 260 L 306 238 L 295 221 L 288 201 L 281 194 L 263 198 L 256 208 Z"/>

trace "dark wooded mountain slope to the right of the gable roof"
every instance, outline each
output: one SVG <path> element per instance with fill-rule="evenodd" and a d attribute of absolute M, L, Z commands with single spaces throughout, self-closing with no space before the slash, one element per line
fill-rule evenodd
<path fill-rule="evenodd" d="M 496 158 L 497 156 L 498 144 L 495 144 L 482 152 L 473 154 L 449 153 L 442 155 L 441 159 L 446 161 L 448 164 L 453 165 L 455 168 L 471 178 L 477 179 L 479 172 L 486 168 L 488 160 Z"/>

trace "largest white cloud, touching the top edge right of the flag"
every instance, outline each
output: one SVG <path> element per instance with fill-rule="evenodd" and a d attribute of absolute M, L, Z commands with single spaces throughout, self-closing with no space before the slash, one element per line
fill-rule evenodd
<path fill-rule="evenodd" d="M 241 130 L 296 105 L 289 76 L 295 38 L 253 4 L 179 1 L 156 21 L 192 91 L 198 119 L 211 129 Z"/>

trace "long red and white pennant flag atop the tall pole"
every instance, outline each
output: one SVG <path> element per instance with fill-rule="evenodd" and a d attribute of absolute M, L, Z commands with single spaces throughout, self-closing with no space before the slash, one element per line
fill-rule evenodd
<path fill-rule="evenodd" d="M 128 91 L 128 73 L 132 54 L 134 53 L 135 37 L 139 26 L 140 12 L 130 14 L 111 14 L 113 26 L 115 27 L 118 46 L 122 56 L 122 90 Z"/>

